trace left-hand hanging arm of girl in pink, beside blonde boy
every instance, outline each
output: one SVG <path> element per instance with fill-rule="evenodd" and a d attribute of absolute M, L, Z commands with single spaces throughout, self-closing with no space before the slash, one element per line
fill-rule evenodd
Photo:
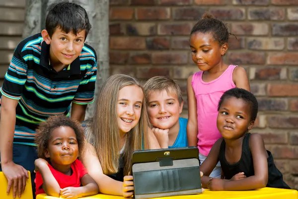
<path fill-rule="evenodd" d="M 188 122 L 187 122 L 187 142 L 188 146 L 198 146 L 198 116 L 197 100 L 191 85 L 192 75 L 187 80 L 188 99 Z"/>

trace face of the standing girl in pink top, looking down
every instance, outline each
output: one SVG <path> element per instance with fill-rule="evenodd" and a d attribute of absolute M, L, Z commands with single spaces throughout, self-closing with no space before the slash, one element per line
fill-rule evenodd
<path fill-rule="evenodd" d="M 195 32 L 190 36 L 193 62 L 201 71 L 208 71 L 219 65 L 227 50 L 227 44 L 220 46 L 211 33 Z"/>

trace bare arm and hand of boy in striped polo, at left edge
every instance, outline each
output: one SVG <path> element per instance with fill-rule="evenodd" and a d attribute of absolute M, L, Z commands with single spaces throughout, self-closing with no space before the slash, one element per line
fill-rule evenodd
<path fill-rule="evenodd" d="M 26 187 L 26 178 L 29 178 L 28 172 L 22 166 L 12 161 L 12 143 L 15 126 L 15 108 L 18 100 L 12 100 L 2 95 L 1 100 L 1 120 L 0 120 L 0 155 L 2 172 L 8 180 L 7 191 L 13 185 L 13 198 L 16 193 L 20 197 Z"/>

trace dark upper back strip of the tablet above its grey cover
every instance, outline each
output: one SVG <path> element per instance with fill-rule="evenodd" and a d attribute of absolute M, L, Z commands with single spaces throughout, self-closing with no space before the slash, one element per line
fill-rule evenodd
<path fill-rule="evenodd" d="M 181 147 L 170 149 L 150 149 L 133 152 L 132 166 L 136 163 L 160 162 L 160 160 L 199 159 L 197 147 Z"/>

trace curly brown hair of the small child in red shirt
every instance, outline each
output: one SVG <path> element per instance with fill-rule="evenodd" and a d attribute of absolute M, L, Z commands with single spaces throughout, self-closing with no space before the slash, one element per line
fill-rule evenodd
<path fill-rule="evenodd" d="M 39 158 L 47 159 L 45 157 L 45 151 L 48 148 L 48 143 L 51 139 L 51 133 L 55 128 L 61 126 L 67 126 L 74 129 L 78 145 L 78 152 L 79 154 L 82 153 L 84 147 L 84 130 L 80 123 L 65 115 L 55 115 L 49 117 L 46 121 L 41 122 L 36 129 L 35 144 L 37 144 L 37 155 Z"/>

